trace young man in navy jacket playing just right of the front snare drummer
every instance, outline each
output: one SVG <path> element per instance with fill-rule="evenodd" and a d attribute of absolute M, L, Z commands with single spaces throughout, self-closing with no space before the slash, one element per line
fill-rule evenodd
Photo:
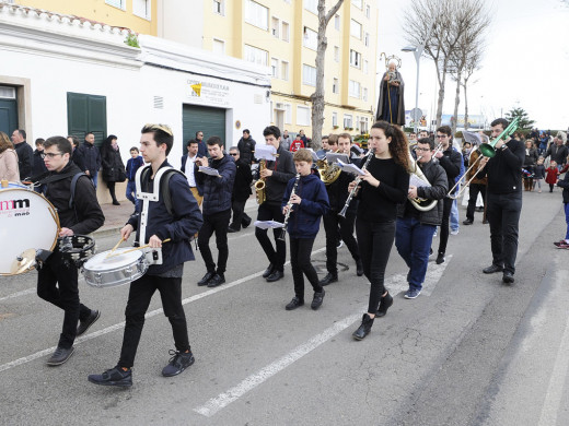
<path fill-rule="evenodd" d="M 236 166 L 228 154 L 223 152 L 223 142 L 219 137 L 208 139 L 209 161 L 206 157 L 196 159 L 195 167 L 210 167 L 217 170 L 216 175 L 198 173 L 196 180 L 204 188 L 204 224 L 199 229 L 198 247 L 206 263 L 207 272 L 198 285 L 217 287 L 225 282 L 229 246 L 228 227 L 231 217 L 231 192 L 235 180 Z M 218 248 L 218 264 L 211 256 L 209 239 L 216 233 Z"/>

